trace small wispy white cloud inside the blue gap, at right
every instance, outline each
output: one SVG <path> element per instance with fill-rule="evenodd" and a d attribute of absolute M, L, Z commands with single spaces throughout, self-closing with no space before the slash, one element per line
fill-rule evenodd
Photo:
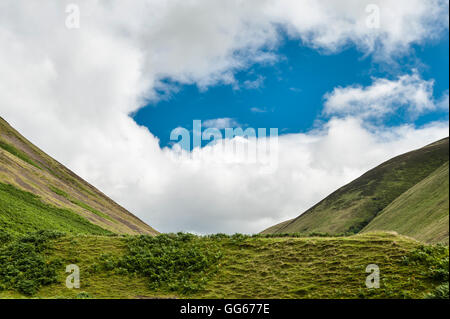
<path fill-rule="evenodd" d="M 383 117 L 404 107 L 414 117 L 433 111 L 443 103 L 434 101 L 433 85 L 433 80 L 425 81 L 414 72 L 396 80 L 375 78 L 366 87 L 338 87 L 325 95 L 324 112 L 369 118 Z"/>

